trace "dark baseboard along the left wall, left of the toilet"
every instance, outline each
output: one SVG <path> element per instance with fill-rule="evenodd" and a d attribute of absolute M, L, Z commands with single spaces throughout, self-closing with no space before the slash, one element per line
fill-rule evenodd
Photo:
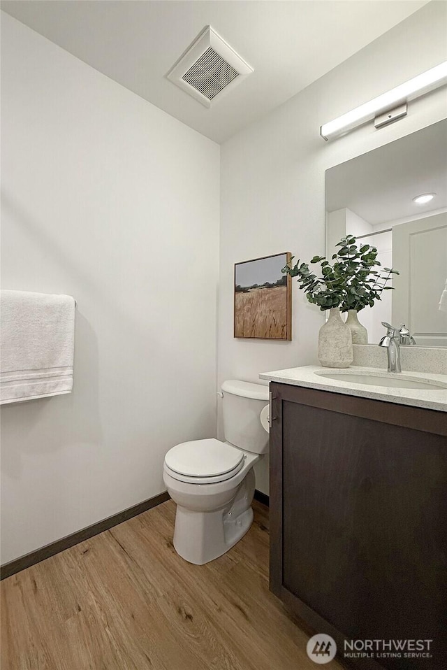
<path fill-rule="evenodd" d="M 45 558 L 50 558 L 50 556 L 54 556 L 54 554 L 59 554 L 59 552 L 69 549 L 84 540 L 88 540 L 94 535 L 98 535 L 109 528 L 117 526 L 119 523 L 127 521 L 142 512 L 146 512 L 148 509 L 166 502 L 166 500 L 169 500 L 169 494 L 167 492 L 161 493 L 154 498 L 143 500 L 137 505 L 133 505 L 133 507 L 129 507 L 122 512 L 118 512 L 117 514 L 98 521 L 91 526 L 87 526 L 87 528 L 82 528 L 71 535 L 67 535 L 60 540 L 47 544 L 45 547 L 41 547 L 40 549 L 31 551 L 29 554 L 15 558 L 13 561 L 5 563 L 0 567 L 0 578 L 5 579 L 6 577 L 15 575 L 15 573 L 20 572 L 25 568 L 29 568 L 31 565 L 44 561 Z"/>

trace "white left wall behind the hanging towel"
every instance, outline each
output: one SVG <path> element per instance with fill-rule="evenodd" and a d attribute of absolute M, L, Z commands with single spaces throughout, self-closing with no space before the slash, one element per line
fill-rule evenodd
<path fill-rule="evenodd" d="M 3 288 L 78 301 L 73 394 L 4 406 L 2 562 L 216 430 L 219 146 L 2 13 Z"/>

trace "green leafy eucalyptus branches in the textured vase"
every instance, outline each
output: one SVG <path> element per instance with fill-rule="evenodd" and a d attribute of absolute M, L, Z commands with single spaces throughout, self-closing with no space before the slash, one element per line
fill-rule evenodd
<path fill-rule="evenodd" d="M 294 256 L 281 272 L 297 277 L 309 302 L 318 305 L 321 311 L 339 307 L 342 312 L 350 309 L 358 312 L 364 307 L 372 307 L 381 299 L 383 291 L 393 290 L 387 284 L 391 276 L 399 272 L 382 267 L 377 260 L 376 247 L 358 246 L 353 235 L 346 235 L 336 246 L 340 248 L 332 256 L 332 264 L 325 256 L 311 259 L 312 265 L 320 264 L 319 276 L 299 259 L 293 264 Z"/>

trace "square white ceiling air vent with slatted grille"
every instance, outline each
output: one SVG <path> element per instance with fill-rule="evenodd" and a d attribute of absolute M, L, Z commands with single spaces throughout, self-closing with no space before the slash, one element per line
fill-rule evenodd
<path fill-rule="evenodd" d="M 211 107 L 251 72 L 253 68 L 207 26 L 167 77 L 205 107 Z"/>

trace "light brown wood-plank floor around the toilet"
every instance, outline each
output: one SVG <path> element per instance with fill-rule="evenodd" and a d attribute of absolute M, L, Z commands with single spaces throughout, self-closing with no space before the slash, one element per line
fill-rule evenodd
<path fill-rule="evenodd" d="M 1 669 L 315 670 L 268 590 L 268 509 L 254 510 L 207 565 L 175 553 L 169 501 L 3 580 Z"/>

